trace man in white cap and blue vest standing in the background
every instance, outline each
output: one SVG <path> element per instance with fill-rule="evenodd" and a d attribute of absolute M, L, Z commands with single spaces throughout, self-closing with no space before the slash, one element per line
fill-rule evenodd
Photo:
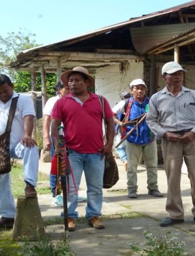
<path fill-rule="evenodd" d="M 114 122 L 119 126 L 123 126 L 123 122 L 117 118 L 120 113 L 125 114 L 125 121 L 138 118 L 147 112 L 149 98 L 145 96 L 146 84 L 142 79 L 135 79 L 130 83 L 130 93 L 133 95 L 128 101 L 120 101 L 112 108 L 114 114 Z M 128 124 L 126 130 L 122 129 L 123 134 L 127 134 L 135 123 Z M 127 189 L 128 197 L 136 198 L 138 190 L 137 185 L 137 169 L 141 154 L 147 170 L 147 189 L 148 194 L 162 197 L 163 195 L 158 190 L 157 184 L 157 143 L 151 133 L 146 120 L 144 120 L 138 129 L 135 129 L 126 139 L 126 154 L 127 154 Z"/>

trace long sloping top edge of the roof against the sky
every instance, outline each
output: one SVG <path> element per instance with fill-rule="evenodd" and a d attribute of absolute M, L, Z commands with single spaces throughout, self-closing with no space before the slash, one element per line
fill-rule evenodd
<path fill-rule="evenodd" d="M 71 43 L 79 42 L 79 41 L 85 40 L 87 38 L 92 38 L 96 35 L 106 33 L 108 31 L 112 31 L 114 29 L 118 29 L 120 27 L 130 25 L 130 24 L 138 22 L 138 21 L 144 21 L 144 20 L 150 19 L 151 17 L 160 16 L 160 15 L 171 13 L 171 12 L 174 12 L 174 11 L 179 11 L 183 8 L 187 8 L 187 7 L 190 7 L 190 6 L 193 6 L 193 5 L 195 5 L 195 0 L 191 1 L 191 2 L 188 2 L 188 3 L 185 3 L 185 4 L 182 4 L 182 5 L 178 5 L 178 6 L 169 8 L 169 9 L 165 9 L 165 10 L 162 10 L 162 11 L 157 11 L 157 12 L 153 12 L 153 13 L 150 13 L 150 14 L 147 14 L 147 15 L 143 15 L 141 17 L 132 18 L 129 21 L 125 21 L 125 22 L 118 23 L 118 24 L 115 24 L 115 25 L 111 25 L 111 26 L 108 26 L 108 27 L 104 27 L 104 28 L 101 28 L 101 29 L 93 30 L 91 32 L 87 32 L 87 33 L 80 34 L 80 35 L 77 35 L 77 36 L 73 36 L 72 38 L 61 40 L 61 41 L 58 41 L 58 42 L 55 42 L 55 43 L 51 43 L 51 44 L 31 48 L 31 49 L 22 51 L 21 53 L 19 53 L 19 55 L 23 55 L 23 54 L 26 54 L 26 53 L 29 54 L 29 53 L 31 53 L 35 50 L 39 50 L 39 49 L 47 49 L 47 48 L 50 48 L 51 46 L 55 46 L 57 44 L 62 44 L 62 43 L 63 43 L 63 45 L 69 45 Z"/>

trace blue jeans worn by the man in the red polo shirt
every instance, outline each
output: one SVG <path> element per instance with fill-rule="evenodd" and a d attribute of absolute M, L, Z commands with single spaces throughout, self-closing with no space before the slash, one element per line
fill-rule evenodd
<path fill-rule="evenodd" d="M 85 173 L 87 185 L 87 206 L 85 208 L 85 217 L 87 220 L 93 216 L 102 215 L 102 189 L 105 159 L 100 160 L 101 155 L 101 153 L 81 154 L 70 150 L 69 160 L 77 190 L 79 190 L 83 171 Z M 75 209 L 77 207 L 78 200 L 73 186 L 72 175 L 69 176 L 69 184 L 70 193 L 67 195 L 68 217 L 72 217 L 77 220 L 79 215 Z M 61 216 L 63 216 L 63 213 Z"/>

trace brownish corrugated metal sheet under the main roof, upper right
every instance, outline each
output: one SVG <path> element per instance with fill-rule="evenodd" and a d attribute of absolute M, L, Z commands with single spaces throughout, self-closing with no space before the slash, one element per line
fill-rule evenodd
<path fill-rule="evenodd" d="M 139 53 L 195 28 L 195 22 L 130 28 L 133 45 Z"/>

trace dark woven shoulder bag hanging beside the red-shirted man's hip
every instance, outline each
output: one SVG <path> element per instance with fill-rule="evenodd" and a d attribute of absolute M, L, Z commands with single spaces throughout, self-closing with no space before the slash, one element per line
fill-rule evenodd
<path fill-rule="evenodd" d="M 100 100 L 100 103 L 102 106 L 105 134 L 106 134 L 106 138 L 107 138 L 107 128 L 106 128 L 105 113 L 104 113 L 104 99 L 101 95 L 99 95 L 98 97 L 99 97 L 99 100 Z M 116 164 L 113 154 L 110 153 L 110 155 L 107 156 L 105 159 L 103 188 L 109 189 L 109 188 L 113 187 L 118 180 L 119 180 L 118 166 Z"/>

